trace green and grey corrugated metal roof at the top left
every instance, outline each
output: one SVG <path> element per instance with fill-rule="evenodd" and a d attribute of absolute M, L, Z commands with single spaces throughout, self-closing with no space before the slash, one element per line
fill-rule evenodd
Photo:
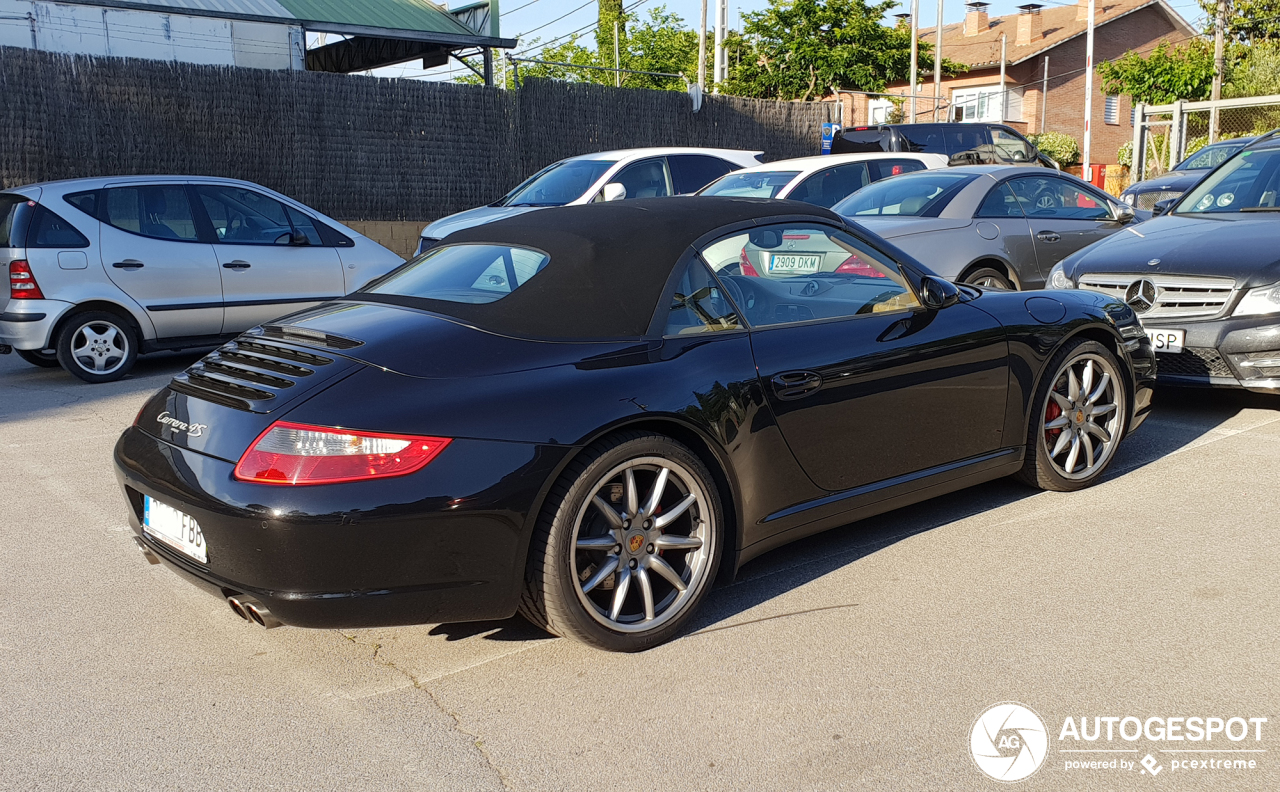
<path fill-rule="evenodd" d="M 81 5 L 156 8 L 230 17 L 319 22 L 330 26 L 448 33 L 475 37 L 476 32 L 443 8 L 426 0 L 61 0 Z"/>

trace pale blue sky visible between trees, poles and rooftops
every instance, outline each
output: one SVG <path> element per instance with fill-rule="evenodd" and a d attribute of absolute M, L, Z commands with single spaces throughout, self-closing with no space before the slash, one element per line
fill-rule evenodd
<path fill-rule="evenodd" d="M 470 4 L 471 0 L 452 0 L 453 8 Z M 637 0 L 623 0 L 631 5 Z M 987 9 L 992 17 L 1018 13 L 1018 6 L 1029 0 L 991 0 Z M 1074 5 L 1070 0 L 1037 0 L 1046 5 Z M 1204 14 L 1196 0 L 1167 0 L 1193 27 L 1199 28 Z M 716 15 L 716 0 L 708 3 L 708 31 L 713 29 Z M 767 8 L 768 0 L 730 0 L 728 23 L 731 28 L 737 28 L 741 14 L 756 12 Z M 932 27 L 937 20 L 937 0 L 920 0 L 920 27 Z M 649 9 L 666 6 L 668 12 L 680 14 L 685 24 L 698 29 L 698 17 L 701 14 L 701 0 L 640 0 L 636 13 L 648 17 Z M 963 0 L 945 0 L 943 19 L 947 24 L 964 19 Z M 500 0 L 499 12 L 502 14 L 502 35 L 506 38 L 520 38 L 521 45 L 516 47 L 516 54 L 536 56 L 538 46 L 530 46 L 534 38 L 540 38 L 541 44 L 550 42 L 557 37 L 568 36 L 580 28 L 591 28 L 596 17 L 596 0 Z M 890 14 L 910 12 L 910 0 L 906 0 L 901 9 L 893 9 Z M 586 29 L 585 36 L 591 37 L 594 29 Z M 710 35 L 710 33 L 709 33 Z M 465 69 L 461 64 L 451 61 L 447 67 L 424 72 L 421 64 L 410 63 L 397 67 L 387 67 L 374 72 L 379 77 L 408 77 L 416 79 L 452 79 Z"/>

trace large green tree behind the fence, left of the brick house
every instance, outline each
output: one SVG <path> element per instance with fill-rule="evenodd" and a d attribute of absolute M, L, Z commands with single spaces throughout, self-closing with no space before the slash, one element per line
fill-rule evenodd
<path fill-rule="evenodd" d="M 867 0 L 769 0 L 742 14 L 742 35 L 727 42 L 727 93 L 778 100 L 810 100 L 838 88 L 883 91 L 905 81 L 911 68 L 911 31 L 882 19 L 897 3 Z M 922 73 L 932 47 L 919 44 Z M 965 67 L 943 60 L 943 73 Z"/>

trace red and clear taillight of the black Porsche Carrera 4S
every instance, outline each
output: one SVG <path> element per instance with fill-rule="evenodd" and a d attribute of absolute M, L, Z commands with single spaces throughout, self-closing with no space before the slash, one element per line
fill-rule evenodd
<path fill-rule="evenodd" d="M 256 484 L 342 484 L 404 476 L 422 470 L 448 438 L 387 435 L 276 421 L 236 464 L 236 477 Z"/>

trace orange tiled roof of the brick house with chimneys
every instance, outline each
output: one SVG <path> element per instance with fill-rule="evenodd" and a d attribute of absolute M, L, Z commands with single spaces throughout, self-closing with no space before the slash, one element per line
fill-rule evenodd
<path fill-rule="evenodd" d="M 1196 31 L 1187 24 L 1187 20 L 1178 15 L 1164 0 L 1096 0 L 1094 29 L 1148 5 L 1160 6 L 1170 15 L 1176 27 L 1183 28 L 1189 36 L 1196 35 Z M 1000 36 L 1005 35 L 1007 36 L 1006 56 L 1010 64 L 1015 64 L 1056 47 L 1069 38 L 1080 36 L 1088 28 L 1087 20 L 1076 19 L 1079 14 L 1074 4 L 1046 5 L 1039 13 L 1042 36 L 1030 44 L 1019 46 L 1018 17 L 1020 15 L 992 17 L 989 27 L 974 36 L 964 35 L 963 22 L 942 26 L 942 56 L 969 67 L 998 65 Z M 920 38 L 932 44 L 933 28 L 922 28 Z"/>

